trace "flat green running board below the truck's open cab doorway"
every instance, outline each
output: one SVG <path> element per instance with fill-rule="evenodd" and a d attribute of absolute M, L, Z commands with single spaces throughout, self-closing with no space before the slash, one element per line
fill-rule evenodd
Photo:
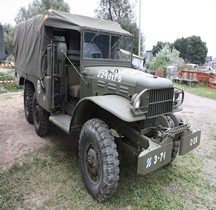
<path fill-rule="evenodd" d="M 68 114 L 54 114 L 49 117 L 49 121 L 62 129 L 67 134 L 70 134 L 70 123 L 72 117 Z"/>

